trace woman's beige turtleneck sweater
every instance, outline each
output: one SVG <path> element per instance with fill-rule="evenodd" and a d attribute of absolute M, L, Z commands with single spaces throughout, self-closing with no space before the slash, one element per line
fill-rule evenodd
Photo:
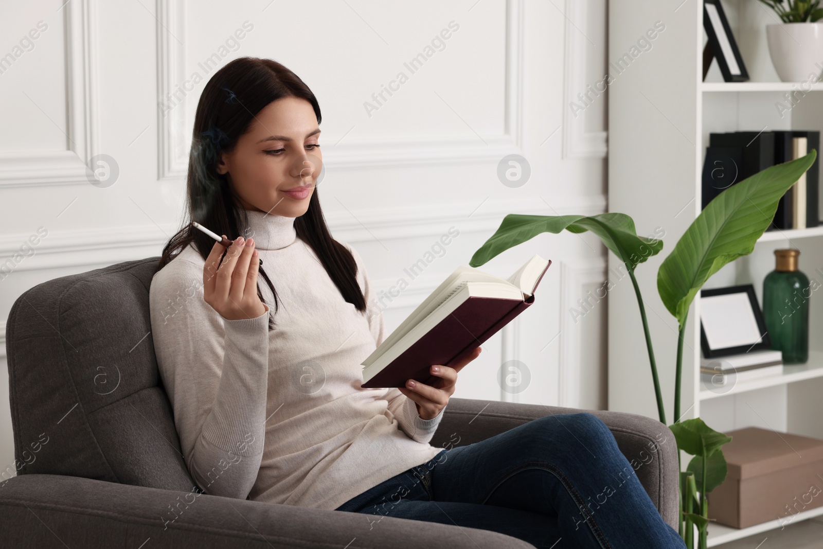
<path fill-rule="evenodd" d="M 440 419 L 398 388 L 361 388 L 386 337 L 360 254 L 366 313 L 343 299 L 293 217 L 249 211 L 269 311 L 226 320 L 203 300 L 205 261 L 188 246 L 151 281 L 151 336 L 185 463 L 208 494 L 316 509 L 434 458 Z M 274 314 L 276 328 L 267 328 Z"/>

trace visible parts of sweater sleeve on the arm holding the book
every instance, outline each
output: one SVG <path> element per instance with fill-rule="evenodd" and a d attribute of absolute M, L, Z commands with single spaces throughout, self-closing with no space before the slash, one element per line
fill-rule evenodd
<path fill-rule="evenodd" d="M 387 336 L 383 309 L 374 295 L 374 287 L 371 285 L 369 273 L 366 272 L 363 266 L 360 254 L 351 246 L 347 245 L 346 247 L 351 251 L 357 263 L 357 277 L 364 287 L 366 318 L 369 321 L 371 334 L 374 336 L 374 345 L 379 347 Z M 437 430 L 440 420 L 443 419 L 443 412 L 448 407 L 448 405 L 443 407 L 443 410 L 440 410 L 437 416 L 425 420 L 417 413 L 416 402 L 401 393 L 399 388 L 389 388 L 386 399 L 388 400 L 388 411 L 392 412 L 392 415 L 398 420 L 400 429 L 410 439 L 426 444 L 435 435 L 435 430 Z"/>

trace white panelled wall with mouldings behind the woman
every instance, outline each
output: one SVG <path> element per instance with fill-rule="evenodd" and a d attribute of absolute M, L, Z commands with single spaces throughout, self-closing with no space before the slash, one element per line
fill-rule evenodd
<path fill-rule="evenodd" d="M 606 209 L 606 96 L 570 109 L 605 73 L 606 0 L 64 2 L 6 2 L 0 17 L 2 468 L 14 459 L 9 309 L 42 281 L 160 254 L 182 221 L 188 135 L 216 70 L 199 63 L 213 54 L 220 66 L 274 58 L 318 96 L 332 234 L 360 251 L 379 291 L 409 283 L 385 301 L 389 329 L 504 215 Z M 458 30 L 427 50 L 451 21 Z M 404 63 L 420 53 L 430 57 L 412 74 Z M 398 72 L 408 81 L 367 112 Z M 107 188 L 86 177 L 100 154 L 119 169 Z M 531 169 L 517 188 L 497 176 L 509 154 Z M 427 254 L 452 226 L 445 253 Z M 21 254 L 39 228 L 48 234 Z M 605 249 L 591 235 L 543 234 L 481 269 L 508 277 L 532 254 L 553 261 L 535 305 L 486 342 L 454 396 L 603 408 L 606 302 L 570 309 L 605 280 Z M 404 268 L 421 258 L 412 280 Z M 511 360 L 530 377 L 519 393 L 497 379 Z"/>

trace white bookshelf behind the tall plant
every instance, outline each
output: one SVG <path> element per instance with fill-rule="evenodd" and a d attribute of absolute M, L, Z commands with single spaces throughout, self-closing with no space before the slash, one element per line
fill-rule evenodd
<path fill-rule="evenodd" d="M 642 263 L 635 274 L 645 301 L 658 373 L 671 424 L 677 350 L 677 320 L 663 306 L 657 273 L 686 228 L 700 214 L 701 171 L 709 134 L 731 131 L 816 129 L 823 131 L 823 83 L 805 86 L 805 95 L 788 112 L 776 103 L 802 82 L 781 82 L 774 72 L 765 38 L 770 12 L 754 0 L 723 0 L 732 33 L 751 81 L 723 82 L 713 63 L 702 81 L 705 41 L 703 2 L 612 0 L 609 54 L 612 63 L 639 37 L 663 21 L 666 29 L 652 49 L 615 76 L 609 89 L 608 181 L 610 212 L 632 216 L 639 235 L 663 228 L 663 252 Z M 820 155 L 821 151 L 818 151 Z M 823 175 L 823 174 L 821 174 Z M 821 188 L 823 191 L 823 188 Z M 821 209 L 823 216 L 823 209 Z M 765 275 L 774 269 L 774 249 L 801 250 L 800 269 L 823 284 L 823 226 L 767 231 L 754 252 L 730 263 L 705 288 L 751 283 L 762 305 Z M 621 263 L 609 255 L 610 272 Z M 739 382 L 725 393 L 709 390 L 700 379 L 700 296 L 690 308 L 681 378 L 682 419 L 700 416 L 714 429 L 760 426 L 823 439 L 823 288 L 811 295 L 810 357 L 804 365 L 784 365 L 780 375 Z M 619 281 L 609 293 L 609 409 L 657 418 L 643 329 L 634 289 Z M 683 460 L 684 467 L 688 463 Z M 788 503 L 788 502 L 787 502 Z M 823 515 L 823 508 L 797 515 Z M 709 546 L 779 528 L 776 520 L 752 528 L 709 527 Z M 752 547 L 756 547 L 756 544 Z M 792 545 L 783 542 L 785 549 Z"/>

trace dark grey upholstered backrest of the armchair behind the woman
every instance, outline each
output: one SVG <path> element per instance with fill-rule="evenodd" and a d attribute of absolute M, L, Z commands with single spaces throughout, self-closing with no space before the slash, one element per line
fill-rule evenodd
<path fill-rule="evenodd" d="M 194 486 L 151 340 L 157 259 L 55 278 L 12 305 L 6 348 L 17 474 Z"/>

